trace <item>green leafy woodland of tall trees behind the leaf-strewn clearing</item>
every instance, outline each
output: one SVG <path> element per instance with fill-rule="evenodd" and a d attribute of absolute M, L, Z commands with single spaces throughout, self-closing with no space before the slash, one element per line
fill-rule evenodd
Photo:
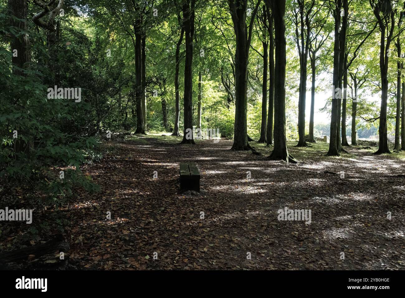
<path fill-rule="evenodd" d="M 87 167 L 119 142 L 162 134 L 174 155 L 219 142 L 227 158 L 245 151 L 281 170 L 354 159 L 358 138 L 376 135 L 362 162 L 383 154 L 403 169 L 403 0 L 0 0 L 0 23 L 9 205 L 63 210 L 100 191 Z M 152 150 L 134 158 L 159 161 Z M 59 215 L 49 221 L 64 231 Z"/>

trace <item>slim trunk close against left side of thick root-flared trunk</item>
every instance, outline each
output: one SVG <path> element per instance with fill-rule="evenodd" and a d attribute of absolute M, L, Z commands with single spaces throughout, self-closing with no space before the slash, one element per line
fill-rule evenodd
<path fill-rule="evenodd" d="M 266 2 L 267 3 L 267 2 Z M 273 144 L 273 114 L 274 114 L 274 37 L 273 37 L 273 15 L 267 7 L 267 18 L 269 19 L 269 110 L 267 114 L 267 146 Z"/>

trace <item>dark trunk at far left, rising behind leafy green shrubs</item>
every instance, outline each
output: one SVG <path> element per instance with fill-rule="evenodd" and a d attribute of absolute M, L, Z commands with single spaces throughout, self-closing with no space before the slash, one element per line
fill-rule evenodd
<path fill-rule="evenodd" d="M 10 25 L 17 28 L 18 31 L 26 31 L 28 13 L 27 1 L 9 0 L 8 5 L 10 15 L 16 18 L 10 18 Z M 11 52 L 13 54 L 14 50 L 17 50 L 17 56 L 12 55 L 11 57 L 13 73 L 15 75 L 25 76 L 23 69 L 29 69 L 29 64 L 31 62 L 31 45 L 30 40 L 28 39 L 28 34 L 11 37 Z M 17 68 L 20 68 L 21 70 Z"/>

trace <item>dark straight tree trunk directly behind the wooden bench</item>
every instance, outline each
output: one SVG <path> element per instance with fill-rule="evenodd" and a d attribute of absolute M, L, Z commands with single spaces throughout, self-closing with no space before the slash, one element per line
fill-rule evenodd
<path fill-rule="evenodd" d="M 185 32 L 185 65 L 184 65 L 184 132 L 181 144 L 195 144 L 193 139 L 193 40 L 194 40 L 194 7 L 196 0 L 183 2 L 183 24 Z M 189 132 L 189 133 L 188 133 Z"/>

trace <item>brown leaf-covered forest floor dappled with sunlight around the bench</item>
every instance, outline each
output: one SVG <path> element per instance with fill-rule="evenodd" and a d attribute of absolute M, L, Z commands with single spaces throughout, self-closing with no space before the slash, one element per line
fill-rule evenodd
<path fill-rule="evenodd" d="M 405 269 L 401 154 L 350 147 L 326 157 L 328 144 L 289 142 L 299 161 L 292 165 L 266 160 L 272 147 L 264 144 L 252 143 L 257 156 L 230 151 L 231 140 L 180 140 L 113 141 L 100 163 L 83 168 L 101 190 L 77 193 L 62 210 L 77 268 Z M 190 161 L 201 172 L 200 194 L 179 193 L 179 163 Z M 277 220 L 284 207 L 310 209 L 311 223 Z"/>

